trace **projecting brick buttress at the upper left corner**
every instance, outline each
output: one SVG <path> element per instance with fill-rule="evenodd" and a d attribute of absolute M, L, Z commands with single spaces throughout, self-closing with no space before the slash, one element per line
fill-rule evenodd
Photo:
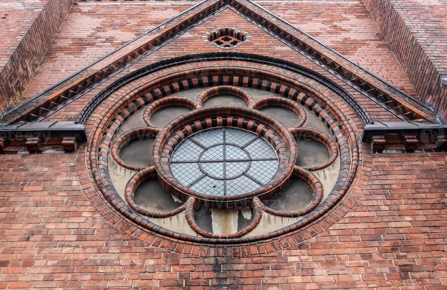
<path fill-rule="evenodd" d="M 0 3 L 0 119 L 16 105 L 73 0 Z"/>

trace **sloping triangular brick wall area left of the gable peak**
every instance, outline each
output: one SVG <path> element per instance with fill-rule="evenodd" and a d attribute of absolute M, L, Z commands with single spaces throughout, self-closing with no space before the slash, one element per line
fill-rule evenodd
<path fill-rule="evenodd" d="M 97 2 L 93 2 L 95 3 Z M 21 101 L 38 94 L 192 5 L 73 5 Z"/>

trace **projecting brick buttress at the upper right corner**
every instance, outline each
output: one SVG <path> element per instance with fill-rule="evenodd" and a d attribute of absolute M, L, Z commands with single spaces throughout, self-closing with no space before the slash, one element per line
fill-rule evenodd
<path fill-rule="evenodd" d="M 447 8 L 442 1 L 365 0 L 406 75 L 422 98 L 446 117 Z"/>

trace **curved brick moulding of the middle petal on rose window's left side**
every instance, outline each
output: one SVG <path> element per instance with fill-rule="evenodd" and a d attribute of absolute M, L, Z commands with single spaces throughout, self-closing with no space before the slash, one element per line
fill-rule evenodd
<path fill-rule="evenodd" d="M 146 167 L 143 166 L 133 166 L 131 164 L 126 164 L 120 157 L 119 153 L 123 147 L 125 147 L 130 141 L 135 139 L 140 139 L 144 137 L 154 137 L 156 133 L 154 133 L 153 128 L 148 127 L 139 127 L 135 129 L 131 129 L 124 134 L 119 135 L 114 142 L 112 143 L 112 148 L 110 150 L 112 154 L 112 158 L 118 163 L 119 166 L 127 168 L 129 170 L 140 171 Z"/>

